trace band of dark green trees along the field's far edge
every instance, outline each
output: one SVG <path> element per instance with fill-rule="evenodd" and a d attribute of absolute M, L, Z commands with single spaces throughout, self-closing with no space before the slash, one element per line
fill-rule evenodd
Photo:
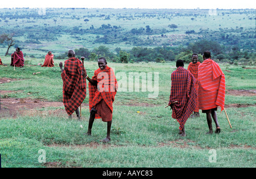
<path fill-rule="evenodd" d="M 230 52 L 225 53 L 223 46 L 215 41 L 201 40 L 191 43 L 188 46 L 163 46 L 156 48 L 147 48 L 142 46 L 134 46 L 131 50 L 122 50 L 115 48 L 115 53 L 104 45 L 89 50 L 86 48 L 75 49 L 76 57 L 85 57 L 88 61 L 97 61 L 100 57 L 105 57 L 109 61 L 120 63 L 133 63 L 133 62 L 166 62 L 183 59 L 185 63 L 191 62 L 193 53 L 199 54 L 199 61 L 203 62 L 203 53 L 209 50 L 212 53 L 212 58 L 218 62 L 236 63 L 253 62 L 255 63 L 256 53 L 250 53 L 246 50 L 243 51 L 238 46 L 233 46 Z M 67 52 L 55 57 L 57 59 L 67 58 Z M 256 64 L 255 64 L 256 65 Z"/>

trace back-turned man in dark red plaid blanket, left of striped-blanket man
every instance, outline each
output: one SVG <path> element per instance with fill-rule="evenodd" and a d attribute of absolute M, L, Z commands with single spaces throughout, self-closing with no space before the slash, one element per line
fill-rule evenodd
<path fill-rule="evenodd" d="M 179 134 L 185 136 L 185 122 L 196 108 L 195 77 L 184 69 L 184 62 L 178 59 L 177 70 L 171 74 L 171 95 L 169 105 L 172 109 L 172 118 L 179 123 Z M 177 101 L 177 103 L 174 103 Z"/>

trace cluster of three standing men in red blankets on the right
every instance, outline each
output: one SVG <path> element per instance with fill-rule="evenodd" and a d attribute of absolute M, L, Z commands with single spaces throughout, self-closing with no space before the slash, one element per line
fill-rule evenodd
<path fill-rule="evenodd" d="M 205 51 L 203 63 L 198 61 L 198 55 L 192 55 L 192 62 L 188 70 L 184 69 L 184 62 L 176 62 L 177 70 L 171 74 L 171 94 L 169 104 L 172 118 L 179 123 L 179 134 L 185 136 L 185 122 L 191 117 L 199 117 L 199 109 L 207 115 L 209 132 L 212 134 L 212 118 L 216 125 L 215 133 L 220 133 L 216 110 L 225 104 L 225 75 L 218 63 L 211 59 L 210 52 Z"/>

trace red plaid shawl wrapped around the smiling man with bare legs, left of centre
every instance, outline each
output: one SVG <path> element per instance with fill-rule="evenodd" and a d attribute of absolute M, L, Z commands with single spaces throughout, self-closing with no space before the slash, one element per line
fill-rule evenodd
<path fill-rule="evenodd" d="M 97 87 L 89 85 L 89 109 L 95 108 L 101 100 L 104 100 L 113 113 L 113 102 L 117 93 L 117 79 L 112 68 L 106 66 L 104 70 L 97 69 L 94 71 L 92 80 L 97 81 Z M 100 113 L 100 112 L 99 112 Z M 96 113 L 95 118 L 102 118 Z"/>

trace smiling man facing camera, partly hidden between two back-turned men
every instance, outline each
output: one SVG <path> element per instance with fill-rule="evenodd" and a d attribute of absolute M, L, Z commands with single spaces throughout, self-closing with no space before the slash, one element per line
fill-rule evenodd
<path fill-rule="evenodd" d="M 198 61 L 198 54 L 196 54 L 196 53 L 192 54 L 192 62 L 189 63 L 188 70 L 196 78 L 195 88 L 196 88 L 196 93 L 197 94 L 198 94 L 198 66 L 200 64 L 201 63 Z M 194 114 L 191 115 L 191 117 L 200 117 L 200 115 L 199 115 L 199 108 L 198 108 L 198 97 L 196 98 L 196 109 L 194 111 Z"/>

